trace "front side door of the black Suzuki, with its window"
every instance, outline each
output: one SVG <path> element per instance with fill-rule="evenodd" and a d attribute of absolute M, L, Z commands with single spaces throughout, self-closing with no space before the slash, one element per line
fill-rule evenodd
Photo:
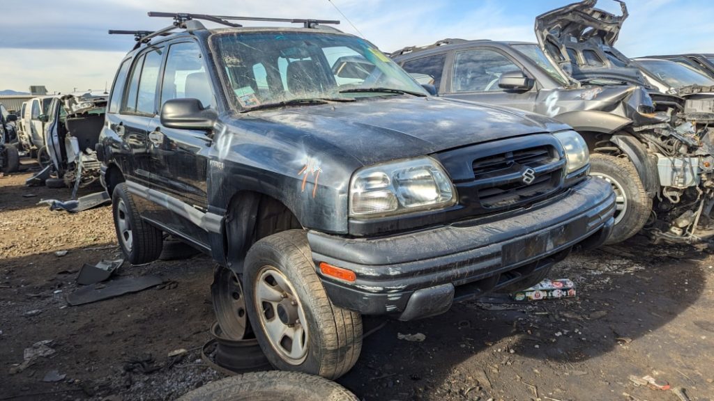
<path fill-rule="evenodd" d="M 196 41 L 172 43 L 163 70 L 161 105 L 176 98 L 197 98 L 203 107 L 216 107 L 213 93 Z M 161 126 L 158 116 L 151 119 L 150 128 L 151 188 L 173 198 L 165 205 L 159 205 L 169 213 L 161 213 L 157 218 L 166 227 L 207 244 L 206 231 L 186 218 L 186 208 L 203 213 L 208 210 L 206 171 L 211 138 L 206 131 Z"/>

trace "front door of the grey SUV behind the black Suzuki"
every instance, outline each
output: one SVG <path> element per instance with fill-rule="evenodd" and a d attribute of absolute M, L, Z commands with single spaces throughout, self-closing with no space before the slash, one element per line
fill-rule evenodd
<path fill-rule="evenodd" d="M 507 91 L 498 86 L 501 75 L 513 71 L 531 76 L 523 66 L 494 48 L 456 51 L 451 77 L 445 82 L 442 96 L 533 111 L 537 85 L 525 92 Z"/>

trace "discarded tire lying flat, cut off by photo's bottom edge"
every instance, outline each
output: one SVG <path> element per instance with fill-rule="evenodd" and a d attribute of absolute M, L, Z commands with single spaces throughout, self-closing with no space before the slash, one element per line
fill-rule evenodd
<path fill-rule="evenodd" d="M 301 372 L 246 373 L 208 383 L 178 401 L 358 401 L 346 388 Z"/>

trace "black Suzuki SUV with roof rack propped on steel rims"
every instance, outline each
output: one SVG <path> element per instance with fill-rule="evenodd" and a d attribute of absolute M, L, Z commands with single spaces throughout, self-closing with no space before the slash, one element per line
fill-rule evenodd
<path fill-rule="evenodd" d="M 122 61 L 97 147 L 119 243 L 212 255 L 223 333 L 247 316 L 280 369 L 343 375 L 361 315 L 526 288 L 610 233 L 614 193 L 563 123 L 429 96 L 320 21 L 169 15 Z"/>

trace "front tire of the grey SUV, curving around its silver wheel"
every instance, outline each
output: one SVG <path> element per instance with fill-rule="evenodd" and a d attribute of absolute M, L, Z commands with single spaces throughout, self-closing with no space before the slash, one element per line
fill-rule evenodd
<path fill-rule="evenodd" d="M 590 176 L 608 181 L 615 191 L 615 225 L 605 244 L 620 243 L 642 230 L 652 213 L 652 198 L 633 163 L 595 153 L 590 156 Z"/>

